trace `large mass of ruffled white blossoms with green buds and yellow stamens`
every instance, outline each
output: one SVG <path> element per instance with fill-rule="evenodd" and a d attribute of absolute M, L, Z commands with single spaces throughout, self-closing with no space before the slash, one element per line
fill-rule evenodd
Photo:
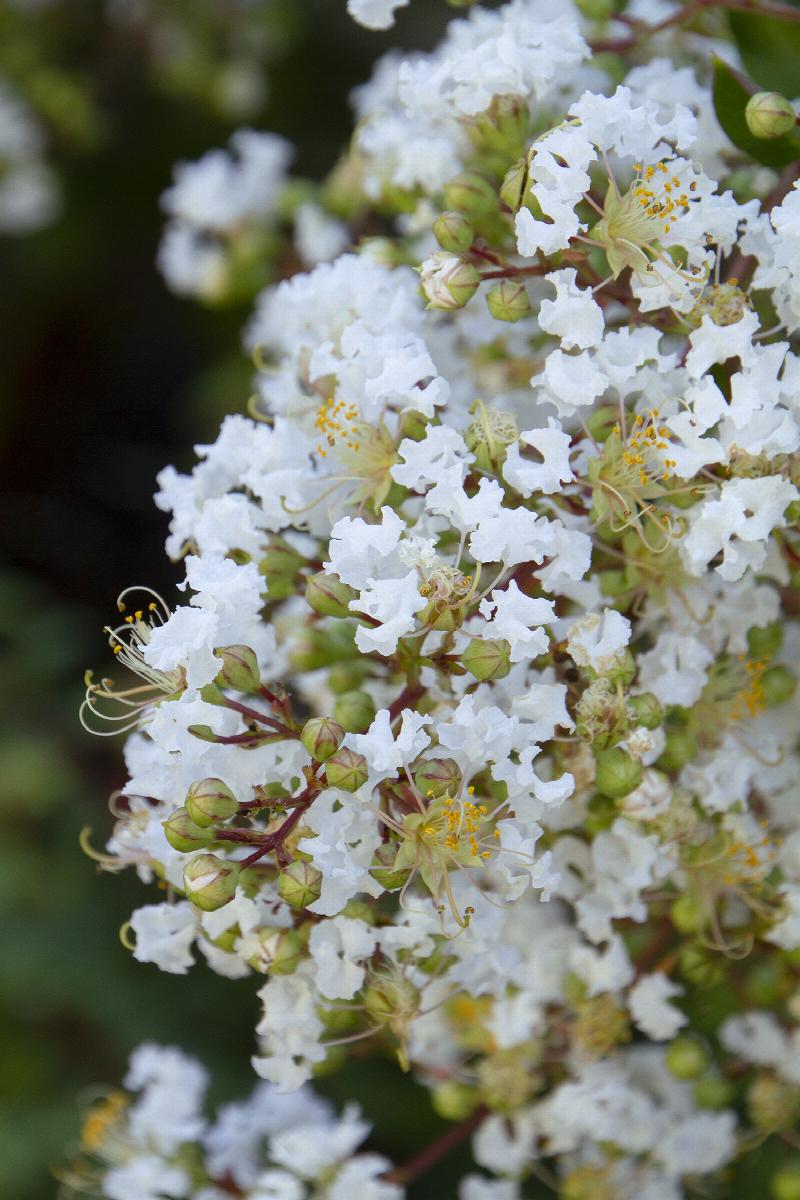
<path fill-rule="evenodd" d="M 91 853 L 162 888 L 137 960 L 261 977 L 267 1084 L 184 1129 L 198 1069 L 139 1051 L 167 1082 L 137 1057 L 85 1139 L 112 1200 L 399 1195 L 306 1091 L 351 1044 L 473 1135 L 462 1200 L 722 1195 L 796 1145 L 796 116 L 722 6 L 596 7 L 378 64 L 249 415 L 160 475 L 185 594 L 124 594 L 142 682 L 88 682 L 128 732 Z M 284 148 L 235 150 L 179 169 L 168 240 L 269 221 Z"/>

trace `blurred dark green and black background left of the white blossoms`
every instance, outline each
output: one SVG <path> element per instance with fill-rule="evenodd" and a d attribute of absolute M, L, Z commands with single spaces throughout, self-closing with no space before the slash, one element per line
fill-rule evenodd
<path fill-rule="evenodd" d="M 241 410 L 247 306 L 204 311 L 170 295 L 155 268 L 158 197 L 173 163 L 224 145 L 240 125 L 297 148 L 319 179 L 345 144 L 350 88 L 389 44 L 427 47 L 452 16 L 420 0 L 389 35 L 359 29 L 344 0 L 148 0 L 143 20 L 109 2 L 0 2 L 0 74 L 48 136 L 62 208 L 50 227 L 0 238 L 0 1190 L 52 1196 L 48 1170 L 78 1134 L 77 1096 L 121 1079 L 142 1039 L 196 1051 L 215 1098 L 246 1092 L 259 978 L 231 983 L 134 962 L 118 938 L 154 899 L 132 874 L 101 875 L 78 835 L 110 830 L 107 797 L 124 782 L 118 739 L 78 725 L 83 673 L 108 667 L 101 628 L 118 593 L 148 583 L 174 595 L 156 473 L 187 469 L 192 445 Z M 118 8 L 119 8 L 118 4 Z M 258 28 L 266 96 L 246 118 L 216 103 L 230 47 Z M 167 13 L 199 49 L 154 66 Z M 149 16 L 152 14 L 152 16 Z M 425 1093 L 387 1063 L 323 1084 L 360 1092 L 377 1144 L 402 1160 L 441 1128 Z M 450 1170 L 413 1195 L 452 1190 Z"/>

